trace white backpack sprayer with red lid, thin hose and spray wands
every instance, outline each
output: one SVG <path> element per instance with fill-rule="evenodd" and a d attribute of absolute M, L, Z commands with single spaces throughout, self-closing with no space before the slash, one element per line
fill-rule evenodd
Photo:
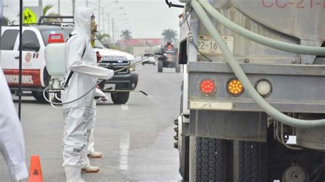
<path fill-rule="evenodd" d="M 93 89 L 96 88 L 99 84 L 103 83 L 106 80 L 101 80 L 91 88 L 88 92 L 84 93 L 82 96 L 80 96 L 77 99 L 74 99 L 73 101 L 69 101 L 67 103 L 56 103 L 53 102 L 53 100 L 58 100 L 58 94 L 62 90 L 64 90 L 64 77 L 67 75 L 67 68 L 66 68 L 66 57 L 65 57 L 65 46 L 66 43 L 64 41 L 62 34 L 51 34 L 49 35 L 49 39 L 47 40 L 49 44 L 47 44 L 47 47 L 45 47 L 45 62 L 47 65 L 47 72 L 49 75 L 51 75 L 51 81 L 49 83 L 49 86 L 47 86 L 43 90 L 43 97 L 44 99 L 50 103 L 53 107 L 54 105 L 67 105 L 69 103 L 73 103 L 75 101 L 78 101 L 82 99 L 86 94 L 91 92 Z M 132 66 L 136 66 L 139 64 L 142 64 L 142 62 L 145 62 L 145 60 L 149 57 L 152 57 L 154 55 L 163 55 L 163 53 L 154 53 L 152 55 L 149 55 L 142 60 L 136 61 L 129 66 L 125 66 L 124 68 L 120 68 L 119 70 L 115 70 L 115 73 L 119 73 L 122 70 L 125 70 L 127 68 L 130 68 Z M 110 92 L 140 92 L 142 94 L 145 94 L 148 96 L 147 93 L 143 92 L 142 90 L 108 90 Z M 49 95 L 49 99 L 47 99 L 47 94 Z"/>

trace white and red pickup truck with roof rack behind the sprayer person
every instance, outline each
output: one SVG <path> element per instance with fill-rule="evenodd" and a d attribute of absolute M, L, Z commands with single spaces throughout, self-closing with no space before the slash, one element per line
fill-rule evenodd
<path fill-rule="evenodd" d="M 32 91 L 36 100 L 44 100 L 43 90 L 49 84 L 51 77 L 47 73 L 45 64 L 45 47 L 50 34 L 63 34 L 64 39 L 73 30 L 71 26 L 60 25 L 24 25 L 23 26 L 23 93 Z M 19 27 L 2 27 L 1 31 L 1 68 L 8 81 L 10 90 L 16 92 L 19 87 Z M 106 49 L 104 45 L 96 41 L 95 51 L 99 51 L 103 59 L 99 66 L 117 70 L 123 66 L 130 65 L 134 61 L 133 55 Z M 138 75 L 130 72 L 133 69 L 118 73 L 108 83 L 111 89 L 134 90 L 138 83 Z M 114 103 L 126 103 L 129 92 L 111 94 Z"/>

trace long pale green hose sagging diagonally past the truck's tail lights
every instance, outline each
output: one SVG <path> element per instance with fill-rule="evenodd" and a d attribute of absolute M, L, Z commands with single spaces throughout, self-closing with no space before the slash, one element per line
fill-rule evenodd
<path fill-rule="evenodd" d="M 243 69 L 241 69 L 241 66 L 235 60 L 234 55 L 232 55 L 232 52 L 230 49 L 228 49 L 226 43 L 224 40 L 222 40 L 219 32 L 213 25 L 212 21 L 210 21 L 210 18 L 208 17 L 208 14 L 204 11 L 202 6 L 197 3 L 196 0 L 192 1 L 192 7 L 197 13 L 197 16 L 200 18 L 200 21 L 203 23 L 204 27 L 206 27 L 206 30 L 210 33 L 211 36 L 213 36 L 213 39 L 215 42 L 217 42 L 219 48 L 221 49 L 222 53 L 224 53 L 224 57 L 232 70 L 234 71 L 234 75 L 237 76 L 239 81 L 243 84 L 243 87 L 245 88 L 245 92 L 248 92 L 250 97 L 255 101 L 255 103 L 261 107 L 269 116 L 272 116 L 276 120 L 284 123 L 285 125 L 289 125 L 292 127 L 298 127 L 298 128 L 315 128 L 315 127 L 325 127 L 325 120 L 299 120 L 296 118 L 291 118 L 285 114 L 282 114 L 278 110 L 274 109 L 269 103 L 267 103 L 258 92 L 256 92 L 254 86 L 252 86 L 252 83 L 250 83 L 250 80 L 243 72 Z"/>

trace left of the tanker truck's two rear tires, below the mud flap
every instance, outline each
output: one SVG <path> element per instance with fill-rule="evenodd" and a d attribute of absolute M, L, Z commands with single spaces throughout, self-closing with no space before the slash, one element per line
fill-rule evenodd
<path fill-rule="evenodd" d="M 226 140 L 197 137 L 193 144 L 190 181 L 226 181 Z"/>

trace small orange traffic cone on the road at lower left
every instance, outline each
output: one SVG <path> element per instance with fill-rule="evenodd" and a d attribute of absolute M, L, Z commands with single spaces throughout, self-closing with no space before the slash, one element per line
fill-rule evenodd
<path fill-rule="evenodd" d="M 40 156 L 30 157 L 28 182 L 43 182 L 42 169 L 40 168 Z"/>

